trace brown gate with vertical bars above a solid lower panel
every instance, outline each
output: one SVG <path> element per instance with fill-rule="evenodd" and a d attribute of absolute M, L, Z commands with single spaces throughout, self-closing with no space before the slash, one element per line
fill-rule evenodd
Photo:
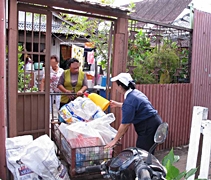
<path fill-rule="evenodd" d="M 36 138 L 49 133 L 52 14 L 42 7 L 19 3 L 18 19 L 17 66 L 9 66 L 18 70 L 17 119 L 9 118 L 9 136 L 31 134 Z M 40 92 L 43 77 L 45 92 Z M 9 86 L 15 85 L 9 82 Z"/>

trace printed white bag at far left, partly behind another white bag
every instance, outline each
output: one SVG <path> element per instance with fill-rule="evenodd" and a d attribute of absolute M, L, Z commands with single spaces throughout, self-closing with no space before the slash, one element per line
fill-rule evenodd
<path fill-rule="evenodd" d="M 18 136 L 6 139 L 7 167 L 14 176 L 14 180 L 39 179 L 38 175 L 29 169 L 22 161 L 26 146 L 33 141 L 31 135 Z"/>

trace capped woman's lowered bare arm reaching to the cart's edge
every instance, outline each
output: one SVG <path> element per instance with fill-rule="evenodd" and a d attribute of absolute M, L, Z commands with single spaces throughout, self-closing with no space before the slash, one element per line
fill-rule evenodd
<path fill-rule="evenodd" d="M 105 148 L 112 148 L 122 138 L 122 136 L 127 132 L 130 125 L 131 124 L 120 124 L 115 138 L 110 143 L 108 143 L 105 146 Z"/>

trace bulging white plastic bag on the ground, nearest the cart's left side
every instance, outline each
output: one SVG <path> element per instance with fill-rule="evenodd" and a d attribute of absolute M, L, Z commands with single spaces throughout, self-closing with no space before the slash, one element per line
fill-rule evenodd
<path fill-rule="evenodd" d="M 55 154 L 54 142 L 43 135 L 26 147 L 21 161 L 46 180 L 69 180 L 67 169 Z"/>

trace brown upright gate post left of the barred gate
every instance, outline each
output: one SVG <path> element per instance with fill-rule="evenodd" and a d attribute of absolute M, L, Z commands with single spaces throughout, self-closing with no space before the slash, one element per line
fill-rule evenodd
<path fill-rule="evenodd" d="M 8 54 L 8 129 L 9 137 L 17 135 L 17 97 L 18 97 L 18 24 L 17 24 L 17 1 L 9 1 L 9 54 Z"/>

